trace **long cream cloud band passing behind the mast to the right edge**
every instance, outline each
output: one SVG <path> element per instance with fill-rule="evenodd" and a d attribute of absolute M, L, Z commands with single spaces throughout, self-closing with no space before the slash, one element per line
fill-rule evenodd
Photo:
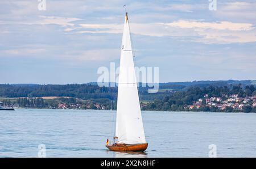
<path fill-rule="evenodd" d="M 80 24 L 77 33 L 122 33 L 122 24 Z M 172 36 L 207 44 L 249 43 L 256 41 L 251 23 L 178 20 L 171 23 L 132 23 L 131 32 L 144 36 Z"/>

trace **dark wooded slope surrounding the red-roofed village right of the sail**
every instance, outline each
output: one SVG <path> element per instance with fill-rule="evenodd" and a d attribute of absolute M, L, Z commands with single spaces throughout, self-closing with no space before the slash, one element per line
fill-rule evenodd
<path fill-rule="evenodd" d="M 177 91 L 172 95 L 165 96 L 163 99 L 155 99 L 154 102 L 150 102 L 142 106 L 143 110 L 151 111 L 208 111 L 208 112 L 234 112 L 233 108 L 227 107 L 224 110 L 220 110 L 217 107 L 207 107 L 201 106 L 200 108 L 188 109 L 185 108 L 187 105 L 192 105 L 199 100 L 204 98 L 204 95 L 211 97 L 220 97 L 223 95 L 233 95 L 237 94 L 239 98 L 245 98 L 246 96 L 256 96 L 255 86 L 250 85 L 242 88 L 241 85 L 233 86 L 229 88 L 228 86 L 209 86 L 209 87 L 190 87 L 186 91 Z M 222 98 L 224 99 L 224 98 Z M 203 105 L 205 103 L 203 102 Z M 256 112 L 256 107 L 251 105 L 245 105 L 242 110 L 243 112 Z"/>

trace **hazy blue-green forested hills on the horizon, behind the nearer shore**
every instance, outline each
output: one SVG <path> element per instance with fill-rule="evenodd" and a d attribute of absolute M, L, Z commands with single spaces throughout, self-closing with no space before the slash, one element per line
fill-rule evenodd
<path fill-rule="evenodd" d="M 255 85 L 256 81 L 193 81 L 159 83 L 159 92 L 148 93 L 148 87 L 139 87 L 142 100 L 162 99 L 175 91 L 186 91 L 190 87 L 227 86 L 232 88 L 241 84 L 241 87 Z M 117 87 L 98 87 L 97 82 L 86 84 L 0 84 L 0 97 L 72 97 L 80 99 L 117 99 Z"/>

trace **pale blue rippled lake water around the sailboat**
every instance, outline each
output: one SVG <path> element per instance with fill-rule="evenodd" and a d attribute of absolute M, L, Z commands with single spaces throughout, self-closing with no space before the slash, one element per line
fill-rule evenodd
<path fill-rule="evenodd" d="M 0 111 L 0 157 L 256 157 L 256 113 L 142 112 L 148 149 L 118 153 L 105 147 L 115 111 Z"/>

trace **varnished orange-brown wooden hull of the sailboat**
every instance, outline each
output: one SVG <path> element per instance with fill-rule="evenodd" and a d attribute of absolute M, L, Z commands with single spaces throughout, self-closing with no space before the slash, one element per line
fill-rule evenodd
<path fill-rule="evenodd" d="M 147 149 L 148 143 L 140 143 L 135 145 L 107 145 L 109 150 L 112 151 L 145 151 Z"/>

